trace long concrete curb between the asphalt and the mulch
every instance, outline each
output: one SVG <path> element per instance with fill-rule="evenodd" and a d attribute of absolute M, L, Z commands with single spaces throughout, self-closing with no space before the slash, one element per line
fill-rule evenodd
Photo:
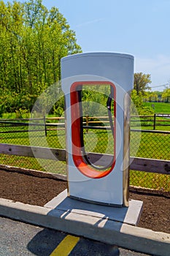
<path fill-rule="evenodd" d="M 150 255 L 169 256 L 170 252 L 169 233 L 154 232 L 100 217 L 31 206 L 3 198 L 0 198 L 0 215 Z"/>

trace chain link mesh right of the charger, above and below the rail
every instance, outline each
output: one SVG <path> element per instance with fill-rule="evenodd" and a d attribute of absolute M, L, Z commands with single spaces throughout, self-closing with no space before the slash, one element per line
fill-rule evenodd
<path fill-rule="evenodd" d="M 140 143 L 138 144 L 140 140 Z M 137 144 L 137 145 L 136 145 Z M 131 156 L 150 159 L 170 159 L 170 132 L 131 130 Z M 138 150 L 136 148 L 139 146 Z M 170 191 L 170 176 L 166 174 L 130 171 L 130 185 Z"/>

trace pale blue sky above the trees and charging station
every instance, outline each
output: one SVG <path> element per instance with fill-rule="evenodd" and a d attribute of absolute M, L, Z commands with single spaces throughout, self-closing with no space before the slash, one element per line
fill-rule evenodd
<path fill-rule="evenodd" d="M 42 0 L 42 4 L 58 7 L 83 52 L 131 53 L 134 71 L 150 74 L 152 87 L 169 82 L 170 0 Z"/>

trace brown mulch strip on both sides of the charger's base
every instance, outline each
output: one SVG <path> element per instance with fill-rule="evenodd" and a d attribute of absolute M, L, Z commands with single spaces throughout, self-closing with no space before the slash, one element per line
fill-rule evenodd
<path fill-rule="evenodd" d="M 32 176 L 0 170 L 0 197 L 21 203 L 44 206 L 67 188 L 67 182 L 58 178 Z M 142 200 L 144 208 L 139 227 L 170 233 L 170 193 L 150 189 L 130 188 L 130 198 Z"/>

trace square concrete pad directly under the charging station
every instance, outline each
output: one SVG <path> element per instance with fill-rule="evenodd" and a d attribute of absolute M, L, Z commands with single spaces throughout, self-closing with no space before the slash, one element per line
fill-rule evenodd
<path fill-rule="evenodd" d="M 66 213 L 75 213 L 98 217 L 100 219 L 109 219 L 116 222 L 126 223 L 128 225 L 137 225 L 142 214 L 143 202 L 139 200 L 130 200 L 129 207 L 101 206 L 93 203 L 86 203 L 75 200 L 67 196 L 67 189 L 54 197 L 45 204 L 46 208 L 61 210 Z"/>

